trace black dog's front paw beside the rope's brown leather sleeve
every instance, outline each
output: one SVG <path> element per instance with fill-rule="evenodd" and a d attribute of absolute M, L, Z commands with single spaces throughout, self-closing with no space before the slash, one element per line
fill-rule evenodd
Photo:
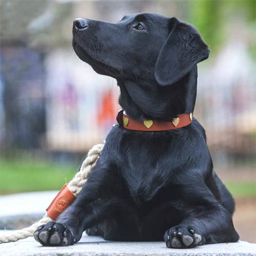
<path fill-rule="evenodd" d="M 70 229 L 53 221 L 39 226 L 34 232 L 34 239 L 44 246 L 68 246 L 76 242 Z"/>

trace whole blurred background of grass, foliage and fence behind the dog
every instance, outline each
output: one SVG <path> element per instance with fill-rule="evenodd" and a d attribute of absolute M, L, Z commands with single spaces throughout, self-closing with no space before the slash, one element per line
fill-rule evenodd
<path fill-rule="evenodd" d="M 198 67 L 194 116 L 236 199 L 241 239 L 256 242 L 256 9 L 250 0 L 1 0 L 0 194 L 60 189 L 103 141 L 120 109 L 118 87 L 75 55 L 72 22 L 117 22 L 135 12 L 176 16 L 209 45 L 210 57 Z"/>

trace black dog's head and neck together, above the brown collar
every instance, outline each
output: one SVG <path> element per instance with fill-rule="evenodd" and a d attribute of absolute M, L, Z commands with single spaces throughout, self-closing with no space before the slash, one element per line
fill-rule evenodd
<path fill-rule="evenodd" d="M 193 112 L 197 63 L 209 55 L 194 27 L 155 13 L 117 23 L 75 19 L 73 48 L 97 73 L 117 79 L 120 105 L 142 120 Z"/>

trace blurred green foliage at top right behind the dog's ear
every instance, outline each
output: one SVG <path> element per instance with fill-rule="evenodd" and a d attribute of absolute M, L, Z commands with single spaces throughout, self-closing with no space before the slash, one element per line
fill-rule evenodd
<path fill-rule="evenodd" d="M 227 39 L 227 30 L 236 26 L 235 20 L 245 20 L 255 28 L 255 3 L 255 0 L 188 1 L 188 21 L 199 30 L 211 50 L 218 50 Z"/>

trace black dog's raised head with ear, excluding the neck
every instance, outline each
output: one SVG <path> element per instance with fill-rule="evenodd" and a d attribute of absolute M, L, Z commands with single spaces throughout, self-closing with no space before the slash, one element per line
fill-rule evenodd
<path fill-rule="evenodd" d="M 178 81 L 209 54 L 194 27 L 155 13 L 117 23 L 75 19 L 73 48 L 100 74 L 161 86 Z"/>

